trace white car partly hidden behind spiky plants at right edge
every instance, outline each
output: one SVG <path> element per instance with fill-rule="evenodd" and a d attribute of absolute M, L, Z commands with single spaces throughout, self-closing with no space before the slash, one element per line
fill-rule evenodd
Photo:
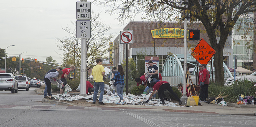
<path fill-rule="evenodd" d="M 241 75 L 241 76 L 236 76 L 236 80 L 243 80 L 243 79 L 247 79 L 247 80 L 252 80 L 256 82 L 256 72 L 253 72 L 250 75 Z M 227 79 L 226 83 L 224 84 L 224 86 L 230 86 L 235 80 L 235 77 L 230 77 Z"/>

